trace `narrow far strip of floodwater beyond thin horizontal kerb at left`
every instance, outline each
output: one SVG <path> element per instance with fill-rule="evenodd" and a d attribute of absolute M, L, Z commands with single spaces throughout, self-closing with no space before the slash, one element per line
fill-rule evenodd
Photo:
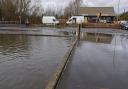
<path fill-rule="evenodd" d="M 0 34 L 10 34 L 10 35 L 33 35 L 33 36 L 43 36 L 43 35 L 57 35 L 57 36 L 73 36 L 75 33 L 75 28 L 19 28 L 19 27 L 0 27 Z"/>

